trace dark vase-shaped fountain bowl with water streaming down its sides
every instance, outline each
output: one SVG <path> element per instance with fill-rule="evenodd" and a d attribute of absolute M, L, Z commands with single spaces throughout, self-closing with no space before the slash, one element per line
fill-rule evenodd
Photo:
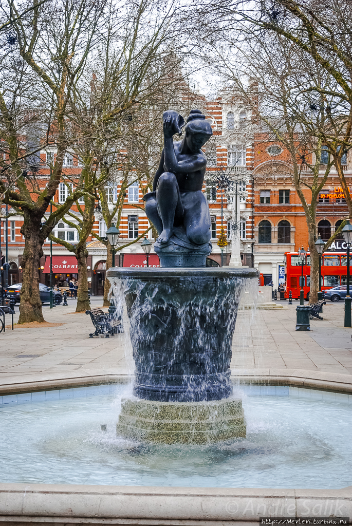
<path fill-rule="evenodd" d="M 106 275 L 127 305 L 136 397 L 199 402 L 232 395 L 238 305 L 257 270 L 115 267 Z"/>

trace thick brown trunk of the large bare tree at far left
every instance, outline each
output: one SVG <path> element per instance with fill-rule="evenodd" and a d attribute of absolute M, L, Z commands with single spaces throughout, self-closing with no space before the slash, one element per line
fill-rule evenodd
<path fill-rule="evenodd" d="M 21 304 L 18 323 L 45 321 L 42 313 L 42 301 L 39 294 L 39 267 L 43 256 L 42 242 L 39 239 L 39 224 L 35 225 L 24 218 L 21 232 L 25 237 L 21 260 L 23 268 Z M 25 224 L 26 223 L 26 224 Z"/>

